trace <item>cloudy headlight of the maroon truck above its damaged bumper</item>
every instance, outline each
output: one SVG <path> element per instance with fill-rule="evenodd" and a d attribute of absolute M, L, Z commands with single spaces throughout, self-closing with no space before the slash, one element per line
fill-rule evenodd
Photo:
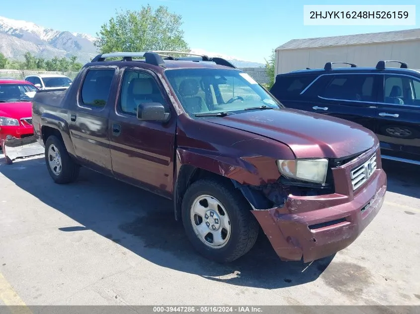
<path fill-rule="evenodd" d="M 324 184 L 328 159 L 280 159 L 277 160 L 277 167 L 285 177 Z"/>

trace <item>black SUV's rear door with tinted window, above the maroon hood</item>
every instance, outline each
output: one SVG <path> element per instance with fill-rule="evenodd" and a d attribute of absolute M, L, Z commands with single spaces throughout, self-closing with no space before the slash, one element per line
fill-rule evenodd
<path fill-rule="evenodd" d="M 314 84 L 319 88 L 312 110 L 374 131 L 379 80 L 368 73 L 324 75 Z"/>

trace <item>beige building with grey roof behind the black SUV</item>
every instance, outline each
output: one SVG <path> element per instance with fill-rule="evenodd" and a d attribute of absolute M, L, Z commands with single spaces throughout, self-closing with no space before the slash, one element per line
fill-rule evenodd
<path fill-rule="evenodd" d="M 420 28 L 383 33 L 293 39 L 277 47 L 275 52 L 276 74 L 306 67 L 323 68 L 325 63 L 337 61 L 356 63 L 357 66 L 376 66 L 379 60 L 398 60 L 407 63 L 409 68 L 419 69 Z M 389 63 L 387 66 L 399 65 L 398 63 Z"/>

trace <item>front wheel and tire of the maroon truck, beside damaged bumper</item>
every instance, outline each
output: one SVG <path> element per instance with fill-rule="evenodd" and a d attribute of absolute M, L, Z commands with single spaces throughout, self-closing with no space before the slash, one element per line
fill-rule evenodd
<path fill-rule="evenodd" d="M 220 204 L 221 208 L 215 207 L 214 204 Z M 195 215 L 196 209 L 200 211 L 200 215 Z M 210 217 L 212 211 L 213 216 Z M 229 221 L 229 224 L 226 221 Z M 188 240 L 195 250 L 219 263 L 231 262 L 245 255 L 255 244 L 259 231 L 259 224 L 241 191 L 222 180 L 214 179 L 201 179 L 187 188 L 182 199 L 182 223 Z M 218 229 L 212 231 L 215 229 L 210 228 Z M 204 232 L 200 233 L 198 229 Z M 209 234 L 203 237 L 202 234 L 207 230 L 217 237 L 214 238 Z M 215 241 L 223 241 L 224 244 L 216 245 Z"/>

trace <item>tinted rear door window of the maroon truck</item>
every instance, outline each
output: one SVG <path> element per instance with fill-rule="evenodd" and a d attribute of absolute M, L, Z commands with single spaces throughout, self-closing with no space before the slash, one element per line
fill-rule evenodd
<path fill-rule="evenodd" d="M 84 105 L 103 108 L 108 100 L 114 69 L 88 70 L 82 85 Z"/>

